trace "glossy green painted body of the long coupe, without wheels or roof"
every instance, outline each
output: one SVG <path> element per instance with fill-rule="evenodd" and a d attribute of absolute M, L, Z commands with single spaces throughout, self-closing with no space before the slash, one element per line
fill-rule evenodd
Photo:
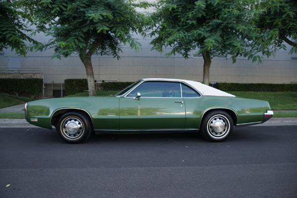
<path fill-rule="evenodd" d="M 95 131 L 198 130 L 202 119 L 213 110 L 228 112 L 235 126 L 264 122 L 264 113 L 270 110 L 269 103 L 263 100 L 230 97 L 226 93 L 227 96 L 205 95 L 205 87 L 203 92 L 197 90 L 198 97 L 194 98 L 182 98 L 181 92 L 176 91 L 176 97 L 172 98 L 129 97 L 129 93 L 138 89 L 143 82 L 146 80 L 138 81 L 138 84 L 130 86 L 119 96 L 31 101 L 26 104 L 26 120 L 33 125 L 51 129 L 59 116 L 66 112 L 79 112 L 87 115 Z M 194 90 L 193 83 L 178 82 Z"/>

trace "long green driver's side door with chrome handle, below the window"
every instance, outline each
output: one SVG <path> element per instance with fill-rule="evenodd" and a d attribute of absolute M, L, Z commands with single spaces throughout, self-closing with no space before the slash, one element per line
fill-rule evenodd
<path fill-rule="evenodd" d="M 185 129 L 185 105 L 180 98 L 121 98 L 121 130 Z"/>

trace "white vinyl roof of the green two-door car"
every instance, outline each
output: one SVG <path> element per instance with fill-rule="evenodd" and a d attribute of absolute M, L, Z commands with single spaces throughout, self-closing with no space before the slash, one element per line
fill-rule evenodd
<path fill-rule="evenodd" d="M 184 82 L 193 88 L 195 88 L 197 91 L 199 91 L 203 96 L 227 96 L 227 97 L 235 97 L 232 94 L 228 94 L 226 92 L 223 92 L 221 90 L 215 89 L 213 87 L 209 87 L 207 85 L 204 85 L 202 83 L 196 82 L 196 81 L 190 81 L 190 80 L 181 80 L 181 79 L 167 79 L 167 78 L 146 78 L 143 79 L 145 81 L 175 81 L 175 82 Z"/>

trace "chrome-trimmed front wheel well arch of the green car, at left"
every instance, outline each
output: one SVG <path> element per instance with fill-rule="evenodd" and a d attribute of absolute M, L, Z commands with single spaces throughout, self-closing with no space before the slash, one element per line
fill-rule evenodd
<path fill-rule="evenodd" d="M 86 111 L 84 109 L 80 109 L 80 108 L 61 108 L 61 109 L 55 110 L 50 118 L 51 125 L 56 126 L 56 123 L 58 122 L 58 118 L 61 115 L 65 114 L 65 113 L 70 113 L 70 112 L 80 113 L 80 114 L 85 115 L 87 117 L 87 119 L 90 121 L 92 130 L 94 131 L 94 125 L 93 125 L 93 120 L 92 120 L 91 115 L 89 114 L 88 111 Z"/>

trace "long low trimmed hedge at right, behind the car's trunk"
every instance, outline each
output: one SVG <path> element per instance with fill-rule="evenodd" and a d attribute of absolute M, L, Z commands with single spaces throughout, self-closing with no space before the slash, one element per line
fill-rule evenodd
<path fill-rule="evenodd" d="M 297 84 L 216 83 L 215 88 L 224 92 L 297 92 Z"/>

